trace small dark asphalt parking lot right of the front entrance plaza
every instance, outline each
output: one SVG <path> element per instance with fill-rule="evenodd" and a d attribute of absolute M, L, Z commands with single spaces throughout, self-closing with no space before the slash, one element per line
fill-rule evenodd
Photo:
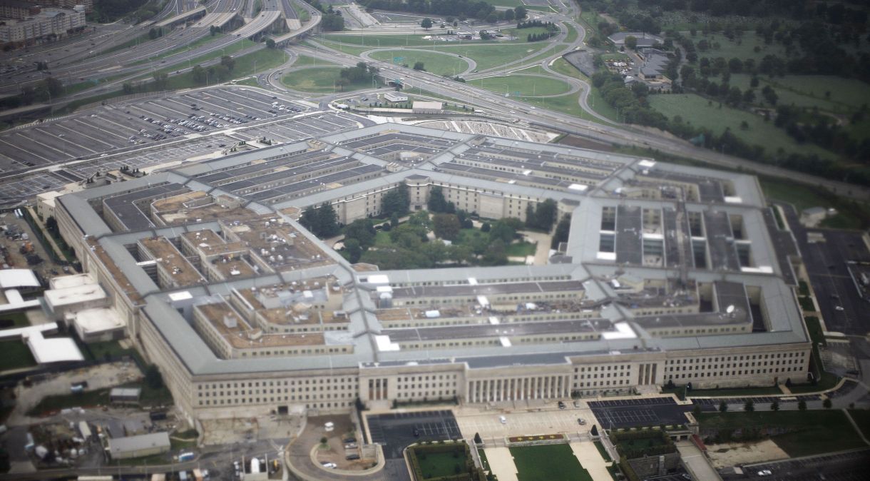
<path fill-rule="evenodd" d="M 590 401 L 589 407 L 607 429 L 682 424 L 686 423 L 686 411 L 692 409 L 692 406 L 676 403 L 672 397 Z"/>

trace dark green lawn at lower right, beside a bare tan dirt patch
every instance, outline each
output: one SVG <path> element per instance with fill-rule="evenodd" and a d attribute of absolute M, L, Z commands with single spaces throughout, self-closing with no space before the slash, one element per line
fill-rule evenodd
<path fill-rule="evenodd" d="M 752 426 L 792 430 L 771 438 L 790 457 L 843 451 L 865 445 L 840 410 L 704 412 L 699 416 L 699 423 L 701 429 Z"/>

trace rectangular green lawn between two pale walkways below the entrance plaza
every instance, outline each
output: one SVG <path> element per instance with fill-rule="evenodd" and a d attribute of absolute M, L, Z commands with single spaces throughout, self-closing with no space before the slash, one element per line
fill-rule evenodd
<path fill-rule="evenodd" d="M 568 444 L 510 449 L 519 481 L 592 481 Z"/>

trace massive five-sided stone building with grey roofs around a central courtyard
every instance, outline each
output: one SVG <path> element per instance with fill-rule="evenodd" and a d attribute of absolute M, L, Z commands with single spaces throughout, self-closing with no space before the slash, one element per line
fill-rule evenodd
<path fill-rule="evenodd" d="M 296 220 L 483 218 L 558 201 L 550 263 L 378 271 Z M 754 177 L 408 125 L 231 155 L 57 200 L 84 269 L 189 417 L 770 385 L 807 376 L 788 255 Z"/>

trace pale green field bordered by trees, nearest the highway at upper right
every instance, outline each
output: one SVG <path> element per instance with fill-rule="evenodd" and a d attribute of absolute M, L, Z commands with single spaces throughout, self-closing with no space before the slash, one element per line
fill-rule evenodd
<path fill-rule="evenodd" d="M 748 144 L 764 147 L 768 154 L 782 149 L 784 152 L 802 155 L 814 153 L 825 159 L 836 157 L 833 152 L 820 146 L 799 145 L 786 131 L 777 128 L 772 122 L 765 122 L 759 115 L 733 109 L 693 93 L 651 95 L 647 99 L 655 110 L 668 119 L 673 120 L 679 116 L 684 122 L 696 127 L 706 127 L 717 135 L 728 128 Z M 746 130 L 741 128 L 743 122 L 746 122 Z"/>

